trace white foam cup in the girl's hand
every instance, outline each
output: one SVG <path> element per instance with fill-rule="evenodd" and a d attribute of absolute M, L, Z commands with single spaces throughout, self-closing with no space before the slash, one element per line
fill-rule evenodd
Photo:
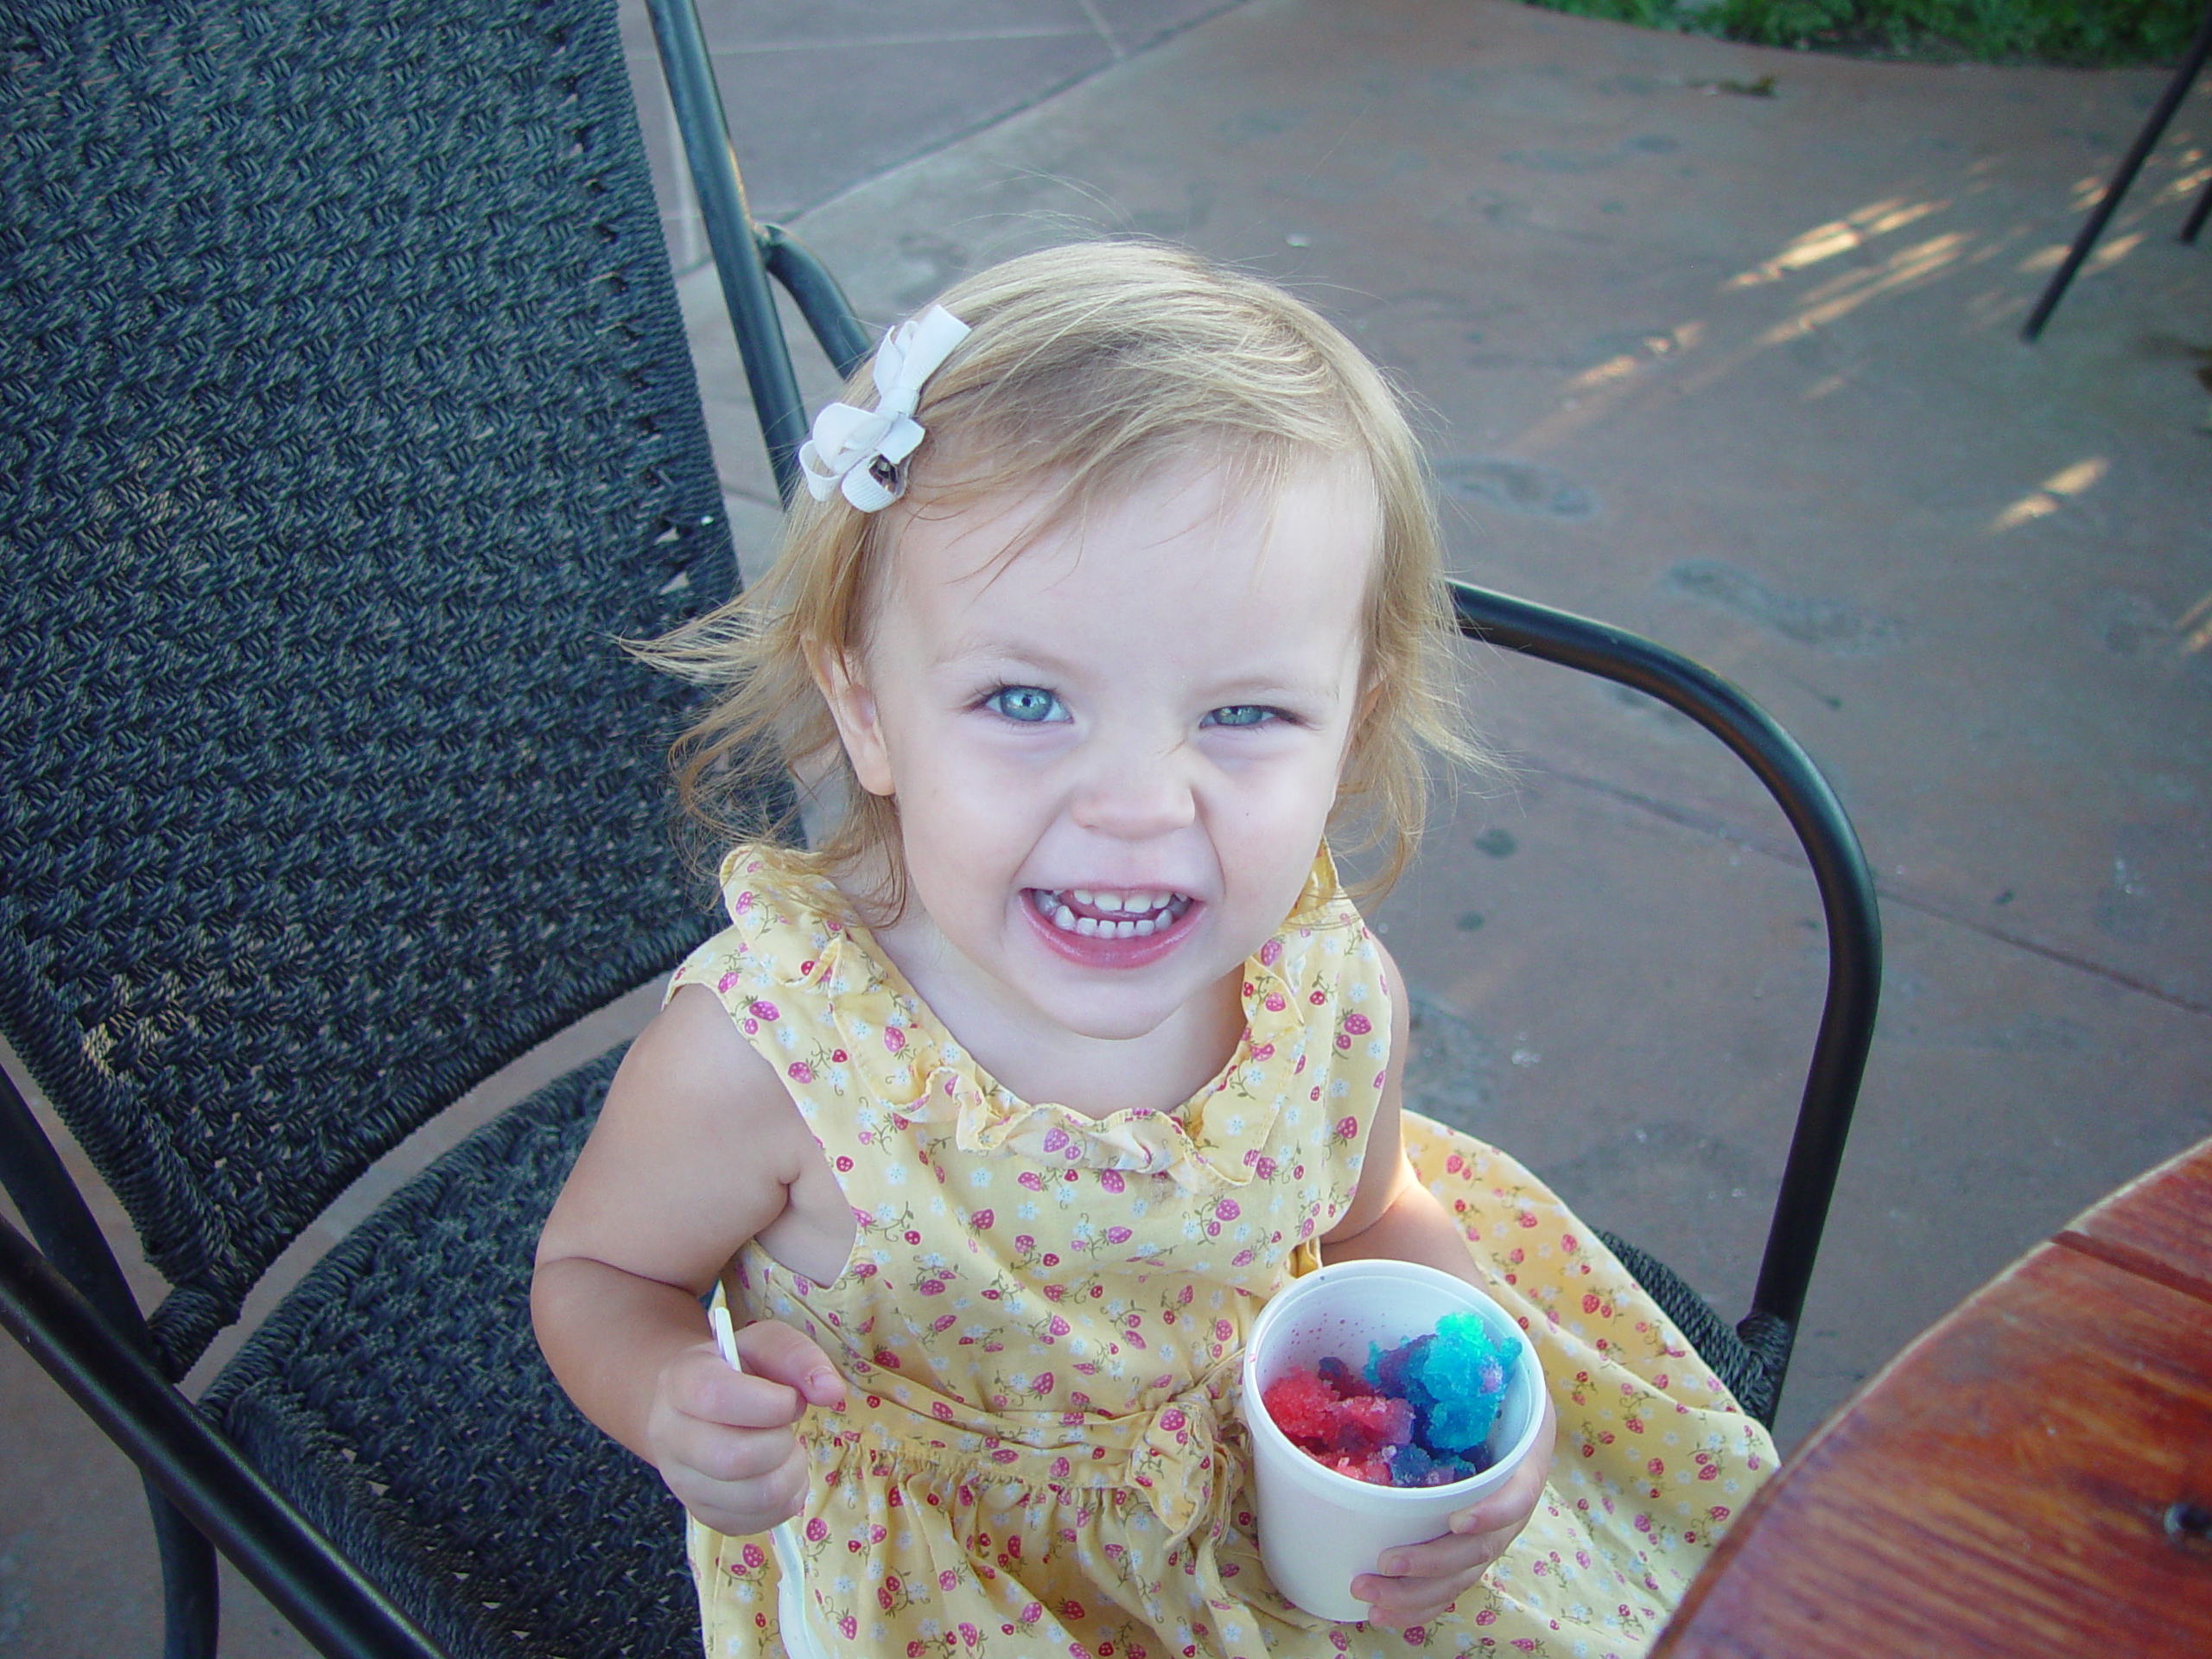
<path fill-rule="evenodd" d="M 1336 1356 L 1352 1371 L 1367 1345 L 1385 1352 L 1427 1336 L 1444 1314 L 1478 1314 L 1520 1347 L 1498 1422 L 1484 1447 L 1493 1462 L 1449 1486 L 1376 1486 L 1316 1462 L 1261 1405 L 1261 1391 L 1290 1371 L 1312 1371 Z M 1374 1573 L 1383 1551 L 1447 1531 L 1451 1515 L 1495 1491 L 1528 1455 L 1544 1420 L 1544 1367 L 1520 1325 L 1462 1279 L 1411 1261 L 1340 1261 L 1292 1281 L 1252 1323 L 1243 1360 L 1243 1416 L 1252 1431 L 1259 1486 L 1259 1553 L 1274 1588 L 1321 1619 L 1356 1621 L 1367 1604 L 1352 1579 Z"/>

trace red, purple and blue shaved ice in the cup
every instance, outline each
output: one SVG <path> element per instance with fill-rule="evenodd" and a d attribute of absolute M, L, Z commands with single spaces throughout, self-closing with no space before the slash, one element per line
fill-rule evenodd
<path fill-rule="evenodd" d="M 1367 1345 L 1354 1371 L 1334 1354 L 1261 1391 L 1292 1444 L 1316 1462 L 1376 1486 L 1449 1486 L 1480 1475 L 1520 1338 L 1493 1334 L 1475 1314 L 1444 1314 L 1433 1334 L 1391 1349 Z"/>

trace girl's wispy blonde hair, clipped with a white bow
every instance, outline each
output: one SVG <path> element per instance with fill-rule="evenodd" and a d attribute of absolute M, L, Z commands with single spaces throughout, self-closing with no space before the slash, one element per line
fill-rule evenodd
<path fill-rule="evenodd" d="M 1318 456 L 1360 460 L 1378 509 L 1363 619 L 1363 692 L 1332 838 L 1380 849 L 1365 891 L 1405 869 L 1427 812 L 1427 757 L 1480 763 L 1453 692 L 1455 626 L 1420 445 L 1376 367 L 1283 290 L 1197 254 L 1130 241 L 1051 248 L 993 265 L 938 301 L 971 334 L 929 378 L 905 498 L 860 513 L 801 498 L 774 566 L 748 593 L 650 644 L 648 664 L 719 690 L 672 745 L 677 799 L 714 841 L 759 834 L 787 774 L 838 776 L 845 812 L 810 858 L 823 874 L 880 856 L 905 902 L 898 805 L 852 774 L 812 661 L 865 650 L 898 529 L 1044 489 L 1031 540 L 1192 458 L 1272 495 Z M 863 365 L 843 398 L 872 405 Z M 812 659 L 812 661 L 810 661 Z M 790 825 L 783 825 L 785 830 Z"/>

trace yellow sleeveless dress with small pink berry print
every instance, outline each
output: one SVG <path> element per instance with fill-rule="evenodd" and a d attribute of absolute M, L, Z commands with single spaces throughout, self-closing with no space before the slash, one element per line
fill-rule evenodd
<path fill-rule="evenodd" d="M 1245 964 L 1248 1029 L 1175 1110 L 1091 1119 L 987 1077 L 852 918 L 772 847 L 723 863 L 706 984 L 783 1075 L 852 1203 L 843 1274 L 759 1245 L 739 1318 L 807 1332 L 847 1380 L 801 1425 L 816 1630 L 905 1659 L 1641 1652 L 1774 1467 L 1628 1272 L 1502 1152 L 1407 1115 L 1491 1296 L 1559 1409 L 1515 1546 L 1416 1630 L 1327 1624 L 1267 1584 L 1237 1418 L 1245 1332 L 1321 1261 L 1383 1086 L 1380 958 L 1327 856 Z M 768 1537 L 690 1524 L 708 1659 L 779 1655 Z"/>

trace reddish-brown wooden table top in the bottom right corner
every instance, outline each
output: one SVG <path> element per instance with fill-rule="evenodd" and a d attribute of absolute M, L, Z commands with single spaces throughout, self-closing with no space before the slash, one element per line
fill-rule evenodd
<path fill-rule="evenodd" d="M 2212 1139 L 1889 1363 L 1652 1659 L 2212 1655 Z"/>

